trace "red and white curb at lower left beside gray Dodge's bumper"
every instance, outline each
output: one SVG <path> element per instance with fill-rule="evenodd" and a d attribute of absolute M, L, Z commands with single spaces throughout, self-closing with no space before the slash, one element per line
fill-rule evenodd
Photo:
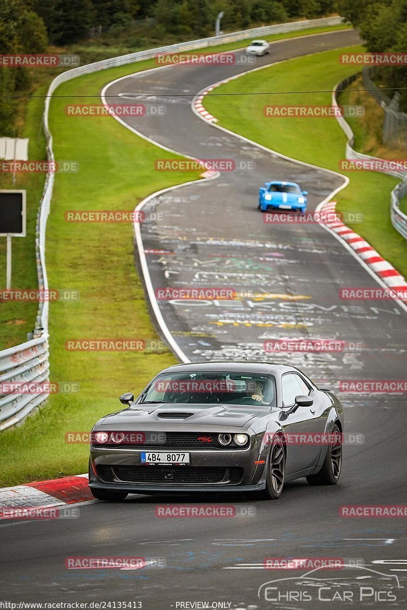
<path fill-rule="evenodd" d="M 94 499 L 87 474 L 4 487 L 0 489 L 0 521 L 2 509 L 41 509 Z"/>

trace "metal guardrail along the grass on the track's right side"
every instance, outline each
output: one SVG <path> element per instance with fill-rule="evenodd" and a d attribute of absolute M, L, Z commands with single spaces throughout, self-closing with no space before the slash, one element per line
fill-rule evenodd
<path fill-rule="evenodd" d="M 352 76 L 348 76 L 344 81 L 340 81 L 337 85 L 335 85 L 334 90 L 332 92 L 332 105 L 338 106 L 337 103 L 337 93 L 344 90 L 348 85 L 350 85 L 353 81 L 355 81 L 356 77 L 359 74 L 353 74 Z M 344 130 L 345 134 L 348 137 L 346 148 L 345 148 L 345 157 L 350 160 L 357 159 L 367 159 L 367 160 L 379 160 L 378 157 L 372 157 L 368 154 L 362 154 L 361 152 L 355 151 L 353 149 L 353 140 L 354 135 L 351 130 L 350 125 L 345 121 L 344 117 L 341 117 L 339 113 L 336 113 L 336 120 Z M 407 194 L 407 171 L 386 171 L 386 174 L 390 174 L 395 178 L 401 178 L 402 182 L 397 184 L 397 186 L 391 192 L 391 221 L 392 225 L 400 233 L 403 235 L 405 239 L 407 239 L 407 216 L 400 210 L 400 201 Z"/>

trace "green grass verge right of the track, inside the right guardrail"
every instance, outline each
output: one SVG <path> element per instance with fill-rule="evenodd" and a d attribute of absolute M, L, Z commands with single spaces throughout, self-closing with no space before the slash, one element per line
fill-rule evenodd
<path fill-rule="evenodd" d="M 217 88 L 215 93 L 307 91 L 310 84 L 312 90 L 330 91 L 338 81 L 355 71 L 355 68 L 339 63 L 338 56 L 343 51 L 337 49 L 289 60 L 230 81 Z M 363 49 L 355 46 L 347 51 Z M 265 117 L 264 106 L 274 104 L 329 106 L 331 94 L 209 94 L 205 101 L 206 109 L 231 131 L 294 159 L 338 171 L 339 160 L 345 157 L 346 137 L 336 119 Z M 407 275 L 406 242 L 390 220 L 390 192 L 397 179 L 370 171 L 349 172 L 348 177 L 350 184 L 336 197 L 338 209 L 344 214 L 361 212 L 364 221 L 349 223 L 351 228 L 370 242 L 400 273 Z"/>

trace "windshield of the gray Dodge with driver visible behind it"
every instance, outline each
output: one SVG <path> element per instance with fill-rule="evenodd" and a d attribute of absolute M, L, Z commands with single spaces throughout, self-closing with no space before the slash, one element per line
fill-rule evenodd
<path fill-rule="evenodd" d="M 276 382 L 271 375 L 189 371 L 154 379 L 140 403 L 276 406 Z"/>

